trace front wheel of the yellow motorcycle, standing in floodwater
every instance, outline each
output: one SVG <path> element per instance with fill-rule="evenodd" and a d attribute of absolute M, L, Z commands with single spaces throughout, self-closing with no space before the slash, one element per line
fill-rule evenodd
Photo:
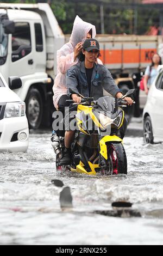
<path fill-rule="evenodd" d="M 111 143 L 108 147 L 108 160 L 112 161 L 112 174 L 127 174 L 127 157 L 121 143 Z"/>

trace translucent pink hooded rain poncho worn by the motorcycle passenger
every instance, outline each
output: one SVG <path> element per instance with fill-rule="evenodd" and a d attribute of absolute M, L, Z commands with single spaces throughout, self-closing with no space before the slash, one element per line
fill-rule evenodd
<path fill-rule="evenodd" d="M 73 29 L 70 41 L 57 51 L 57 76 L 54 80 L 53 86 L 53 102 L 55 108 L 58 108 L 58 101 L 60 97 L 67 94 L 66 88 L 66 72 L 71 66 L 78 63 L 78 58 L 74 62 L 74 48 L 79 42 L 84 42 L 87 33 L 92 29 L 92 38 L 96 36 L 95 26 L 87 23 L 76 16 L 74 20 Z M 100 61 L 99 61 L 100 62 Z"/>

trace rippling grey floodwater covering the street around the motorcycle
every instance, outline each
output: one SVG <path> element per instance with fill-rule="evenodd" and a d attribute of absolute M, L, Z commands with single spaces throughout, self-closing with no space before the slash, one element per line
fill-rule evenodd
<path fill-rule="evenodd" d="M 0 244 L 163 245 L 163 144 L 126 137 L 128 175 L 94 177 L 55 170 L 51 133 L 31 134 L 27 153 L 0 153 Z M 60 210 L 52 179 L 70 186 L 73 210 Z M 127 200 L 142 217 L 95 214 Z"/>

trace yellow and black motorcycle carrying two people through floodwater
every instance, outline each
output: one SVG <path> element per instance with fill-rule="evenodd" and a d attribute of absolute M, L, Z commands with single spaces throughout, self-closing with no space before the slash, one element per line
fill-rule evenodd
<path fill-rule="evenodd" d="M 62 137 L 54 149 L 57 170 L 68 169 L 88 175 L 127 174 L 127 157 L 123 147 L 127 120 L 123 107 L 127 107 L 124 98 L 133 93 L 134 89 L 121 99 L 111 96 L 101 97 L 97 101 L 84 98 L 79 105 L 72 104 L 72 108 L 77 106 L 74 115 L 77 130 L 71 145 L 72 162 L 70 166 L 60 165 L 65 147 Z"/>

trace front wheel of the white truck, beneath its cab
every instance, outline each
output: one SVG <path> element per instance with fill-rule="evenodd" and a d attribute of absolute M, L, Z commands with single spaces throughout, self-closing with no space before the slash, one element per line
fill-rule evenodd
<path fill-rule="evenodd" d="M 38 129 L 42 121 L 43 103 L 37 89 L 30 89 L 26 97 L 26 115 L 29 129 Z"/>

